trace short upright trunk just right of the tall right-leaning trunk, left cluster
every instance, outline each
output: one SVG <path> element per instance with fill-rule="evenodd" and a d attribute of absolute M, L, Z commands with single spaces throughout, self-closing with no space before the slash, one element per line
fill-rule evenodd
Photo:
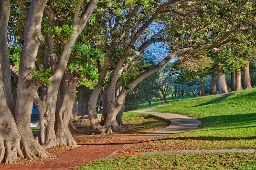
<path fill-rule="evenodd" d="M 62 106 L 58 113 L 58 123 L 56 130 L 57 145 L 65 146 L 77 146 L 76 141 L 73 139 L 69 129 L 68 124 L 70 116 L 72 113 L 72 108 L 76 98 L 76 86 L 79 78 L 74 74 L 65 72 L 65 88 L 64 98 L 62 101 Z"/>

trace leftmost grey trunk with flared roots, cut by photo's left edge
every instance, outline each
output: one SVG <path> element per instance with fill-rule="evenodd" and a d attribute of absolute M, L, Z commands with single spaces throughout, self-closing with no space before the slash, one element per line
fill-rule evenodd
<path fill-rule="evenodd" d="M 0 163 L 13 163 L 13 161 L 17 161 L 17 156 L 24 157 L 23 151 L 25 153 L 29 151 L 26 142 L 21 143 L 21 136 L 9 107 L 9 93 L 11 93 L 8 87 L 10 84 L 7 47 L 9 13 L 10 0 L 0 1 Z M 15 113 L 15 110 L 13 111 Z M 30 155 L 25 154 L 25 156 Z"/>

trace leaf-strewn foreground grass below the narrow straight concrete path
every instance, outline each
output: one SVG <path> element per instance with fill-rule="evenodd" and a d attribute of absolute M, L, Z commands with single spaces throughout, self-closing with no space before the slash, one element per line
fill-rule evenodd
<path fill-rule="evenodd" d="M 244 169 L 256 168 L 256 154 L 186 153 L 122 156 L 93 161 L 73 169 Z"/>

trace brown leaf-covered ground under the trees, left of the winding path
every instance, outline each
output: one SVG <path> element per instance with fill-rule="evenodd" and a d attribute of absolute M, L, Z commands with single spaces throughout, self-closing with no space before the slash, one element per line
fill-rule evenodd
<path fill-rule="evenodd" d="M 107 143 L 120 141 L 125 139 L 130 139 L 136 136 L 143 135 L 145 133 L 149 133 L 158 129 L 162 129 L 170 124 L 170 122 L 165 121 L 163 119 L 147 115 L 147 114 L 135 114 L 130 115 L 131 117 L 127 118 L 123 121 L 125 124 L 125 130 L 120 130 L 117 132 L 113 132 L 111 134 L 105 135 L 91 135 L 92 129 L 80 129 L 76 134 L 73 134 L 73 138 L 76 140 L 77 144 L 86 144 L 86 143 Z M 46 149 L 47 152 L 56 156 L 58 154 L 68 152 L 71 150 L 70 146 L 56 146 L 49 149 Z M 129 152 L 127 150 L 126 152 Z M 51 159 L 55 159 L 55 157 L 50 158 L 39 158 L 34 160 L 28 160 L 21 157 L 18 157 L 18 164 L 31 164 L 31 163 L 42 163 L 49 161 Z"/>

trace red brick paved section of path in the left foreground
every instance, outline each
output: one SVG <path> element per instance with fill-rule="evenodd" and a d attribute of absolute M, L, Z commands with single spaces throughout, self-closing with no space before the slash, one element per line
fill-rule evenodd
<path fill-rule="evenodd" d="M 118 141 L 112 143 L 90 143 L 59 154 L 57 155 L 58 157 L 56 159 L 48 162 L 35 164 L 0 164 L 0 169 L 70 169 L 73 166 L 95 161 L 110 153 L 113 153 L 124 144 L 138 143 L 140 141 L 141 140 Z"/>

